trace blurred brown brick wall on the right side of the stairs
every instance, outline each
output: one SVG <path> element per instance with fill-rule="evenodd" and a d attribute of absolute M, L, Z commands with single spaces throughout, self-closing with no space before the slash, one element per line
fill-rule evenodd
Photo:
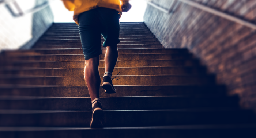
<path fill-rule="evenodd" d="M 242 107 L 256 109 L 256 33 L 233 21 L 177 0 L 151 0 L 171 14 L 148 5 L 144 21 L 165 48 L 188 48 Z M 193 0 L 253 23 L 255 0 Z"/>

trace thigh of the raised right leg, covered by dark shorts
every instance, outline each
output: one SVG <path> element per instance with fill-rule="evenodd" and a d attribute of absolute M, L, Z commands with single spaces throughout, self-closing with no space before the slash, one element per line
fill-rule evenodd
<path fill-rule="evenodd" d="M 109 8 L 99 8 L 101 16 L 102 30 L 101 34 L 105 39 L 103 47 L 116 46 L 119 40 L 120 24 L 119 12 Z"/>

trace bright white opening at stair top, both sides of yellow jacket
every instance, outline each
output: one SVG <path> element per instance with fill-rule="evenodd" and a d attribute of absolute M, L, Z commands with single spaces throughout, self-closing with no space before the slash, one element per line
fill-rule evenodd
<path fill-rule="evenodd" d="M 146 10 L 146 1 L 131 0 L 132 8 L 129 12 L 124 12 L 120 18 L 120 22 L 139 22 L 143 21 L 144 12 Z M 73 12 L 68 11 L 62 1 L 50 0 L 50 7 L 54 15 L 54 22 L 74 22 Z"/>

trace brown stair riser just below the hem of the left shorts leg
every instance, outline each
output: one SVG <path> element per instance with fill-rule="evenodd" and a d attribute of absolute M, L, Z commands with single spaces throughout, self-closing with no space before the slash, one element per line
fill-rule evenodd
<path fill-rule="evenodd" d="M 105 67 L 104 61 L 99 61 L 99 67 Z M 84 68 L 84 61 L 13 61 L 1 63 L 1 66 L 20 66 L 37 68 Z M 116 67 L 143 66 L 195 66 L 198 60 L 117 60 Z"/>

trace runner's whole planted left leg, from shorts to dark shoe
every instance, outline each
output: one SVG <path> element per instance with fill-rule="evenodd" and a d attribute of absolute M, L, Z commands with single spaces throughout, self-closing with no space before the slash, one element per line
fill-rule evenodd
<path fill-rule="evenodd" d="M 97 10 L 83 12 L 79 15 L 79 33 L 85 58 L 84 79 L 92 100 L 92 118 L 90 127 L 102 128 L 103 110 L 99 100 L 99 55 L 101 50 L 101 28 Z"/>

